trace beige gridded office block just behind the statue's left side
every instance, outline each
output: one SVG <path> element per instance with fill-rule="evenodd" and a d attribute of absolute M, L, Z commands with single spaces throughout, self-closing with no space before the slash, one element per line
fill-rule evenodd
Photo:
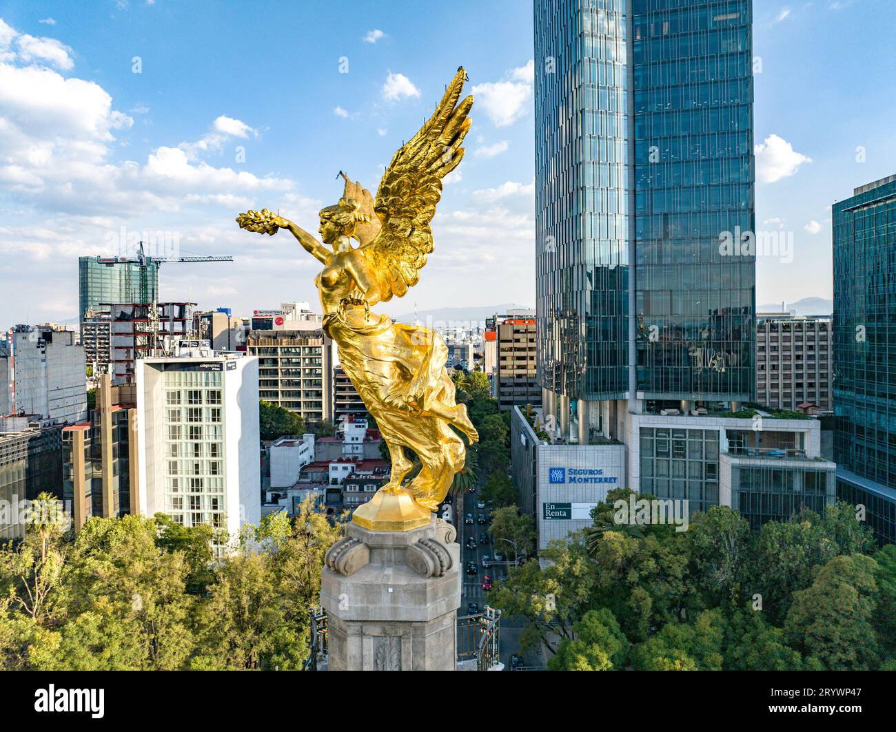
<path fill-rule="evenodd" d="M 322 329 L 253 329 L 246 350 L 258 357 L 264 401 L 301 414 L 306 425 L 333 421 L 336 345 Z"/>

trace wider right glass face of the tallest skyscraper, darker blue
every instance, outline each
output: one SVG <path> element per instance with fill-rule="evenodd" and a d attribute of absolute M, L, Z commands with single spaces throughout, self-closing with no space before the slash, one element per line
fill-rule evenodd
<path fill-rule="evenodd" d="M 751 3 L 634 0 L 637 387 L 747 401 L 754 390 Z"/>

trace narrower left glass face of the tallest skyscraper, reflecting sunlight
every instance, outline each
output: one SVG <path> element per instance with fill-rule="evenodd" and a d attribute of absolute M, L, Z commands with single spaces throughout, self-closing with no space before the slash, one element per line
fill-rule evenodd
<path fill-rule="evenodd" d="M 629 0 L 536 0 L 538 380 L 628 389 Z"/>

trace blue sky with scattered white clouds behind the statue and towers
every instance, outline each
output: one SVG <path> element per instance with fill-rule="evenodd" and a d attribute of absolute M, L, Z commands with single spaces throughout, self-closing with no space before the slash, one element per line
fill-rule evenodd
<path fill-rule="evenodd" d="M 315 302 L 317 263 L 234 217 L 267 206 L 314 230 L 340 169 L 375 191 L 458 64 L 477 99 L 467 155 L 421 284 L 385 310 L 532 303 L 531 6 L 439 7 L 6 0 L 0 324 L 73 318 L 77 256 L 138 235 L 236 259 L 164 265 L 163 298 Z M 755 0 L 757 229 L 796 244 L 760 259 L 758 302 L 829 297 L 831 202 L 896 172 L 893 21 L 892 0 Z"/>

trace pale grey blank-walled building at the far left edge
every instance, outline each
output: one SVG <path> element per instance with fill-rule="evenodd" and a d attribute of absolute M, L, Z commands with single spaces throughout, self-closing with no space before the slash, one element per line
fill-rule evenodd
<path fill-rule="evenodd" d="M 0 415 L 57 423 L 87 417 L 84 349 L 57 326 L 15 326 L 0 348 Z"/>

